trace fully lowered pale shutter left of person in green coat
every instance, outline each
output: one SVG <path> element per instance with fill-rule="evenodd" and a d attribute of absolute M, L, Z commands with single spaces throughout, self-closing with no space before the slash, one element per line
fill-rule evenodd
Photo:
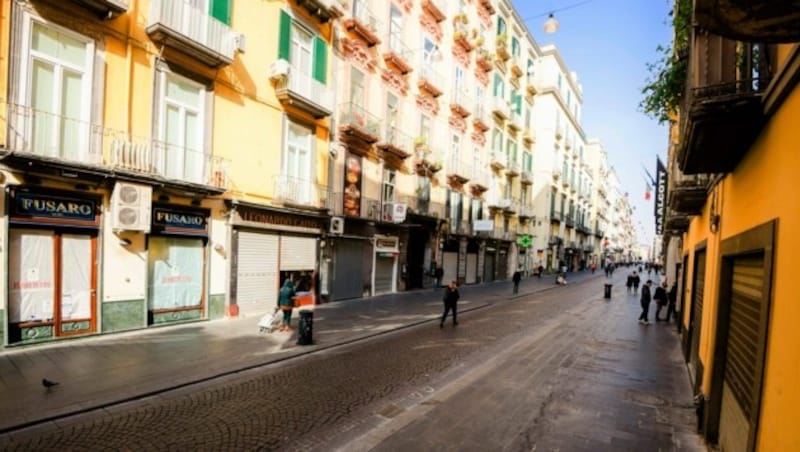
<path fill-rule="evenodd" d="M 239 311 L 273 307 L 278 293 L 278 236 L 239 231 L 236 257 Z"/>

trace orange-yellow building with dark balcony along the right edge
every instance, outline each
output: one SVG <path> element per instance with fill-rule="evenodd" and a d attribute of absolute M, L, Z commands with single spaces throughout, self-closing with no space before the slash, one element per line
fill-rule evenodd
<path fill-rule="evenodd" d="M 800 37 L 780 20 L 769 32 L 752 17 L 726 28 L 731 11 L 711 20 L 695 3 L 666 229 L 680 245 L 668 265 L 680 275 L 699 425 L 722 450 L 796 450 L 800 204 L 791 181 L 800 169 L 792 151 L 800 144 L 800 47 L 760 42 Z"/>

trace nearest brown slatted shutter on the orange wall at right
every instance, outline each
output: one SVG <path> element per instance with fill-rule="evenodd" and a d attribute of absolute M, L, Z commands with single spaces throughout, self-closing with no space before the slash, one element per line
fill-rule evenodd
<path fill-rule="evenodd" d="M 722 389 L 720 446 L 725 450 L 744 450 L 750 431 L 756 379 L 761 369 L 759 336 L 765 318 L 763 300 L 764 257 L 737 258 L 733 261 L 730 326 Z"/>

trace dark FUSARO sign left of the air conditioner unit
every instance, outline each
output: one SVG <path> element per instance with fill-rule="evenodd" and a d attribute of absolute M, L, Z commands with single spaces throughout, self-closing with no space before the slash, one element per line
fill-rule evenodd
<path fill-rule="evenodd" d="M 99 225 L 97 200 L 76 194 L 12 190 L 11 221 L 17 223 L 66 223 L 75 226 Z"/>

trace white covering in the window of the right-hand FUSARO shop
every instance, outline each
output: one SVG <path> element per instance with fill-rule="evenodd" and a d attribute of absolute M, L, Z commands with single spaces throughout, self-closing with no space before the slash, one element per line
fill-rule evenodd
<path fill-rule="evenodd" d="M 203 294 L 203 241 L 152 237 L 149 246 L 150 309 L 199 306 Z"/>

